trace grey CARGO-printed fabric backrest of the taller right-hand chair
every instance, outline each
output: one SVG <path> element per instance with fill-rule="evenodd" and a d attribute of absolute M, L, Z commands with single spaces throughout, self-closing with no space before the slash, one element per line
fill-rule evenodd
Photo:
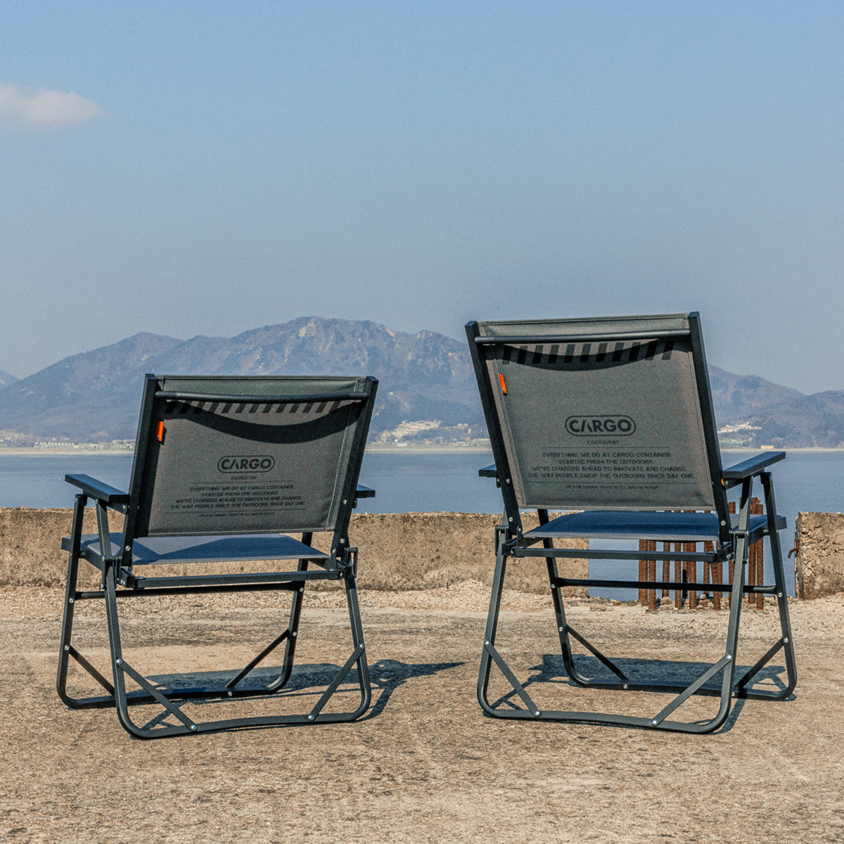
<path fill-rule="evenodd" d="M 726 517 L 696 313 L 469 322 L 466 331 L 509 511 Z"/>

